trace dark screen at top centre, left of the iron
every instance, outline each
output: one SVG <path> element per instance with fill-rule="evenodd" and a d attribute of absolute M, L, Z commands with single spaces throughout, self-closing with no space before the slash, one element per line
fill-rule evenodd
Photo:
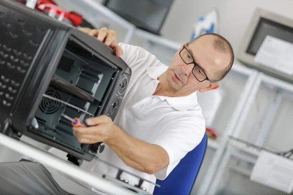
<path fill-rule="evenodd" d="M 172 3 L 173 0 L 105 0 L 104 5 L 137 28 L 160 34 Z"/>

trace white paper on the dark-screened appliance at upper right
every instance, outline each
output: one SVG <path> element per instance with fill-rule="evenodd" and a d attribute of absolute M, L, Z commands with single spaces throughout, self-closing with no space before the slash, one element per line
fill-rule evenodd
<path fill-rule="evenodd" d="M 254 61 L 288 75 L 293 75 L 293 43 L 267 35 Z"/>

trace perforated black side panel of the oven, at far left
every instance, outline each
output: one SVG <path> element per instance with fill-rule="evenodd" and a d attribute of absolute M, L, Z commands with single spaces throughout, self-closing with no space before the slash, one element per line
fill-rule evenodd
<path fill-rule="evenodd" d="M 0 5 L 0 110 L 9 114 L 49 28 Z"/>

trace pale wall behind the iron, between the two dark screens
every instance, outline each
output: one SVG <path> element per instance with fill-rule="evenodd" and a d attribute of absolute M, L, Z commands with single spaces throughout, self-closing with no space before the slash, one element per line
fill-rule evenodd
<path fill-rule="evenodd" d="M 175 0 L 162 35 L 184 42 L 190 39 L 193 23 L 216 8 L 220 14 L 220 34 L 231 42 L 237 53 L 256 7 L 293 19 L 293 0 Z"/>

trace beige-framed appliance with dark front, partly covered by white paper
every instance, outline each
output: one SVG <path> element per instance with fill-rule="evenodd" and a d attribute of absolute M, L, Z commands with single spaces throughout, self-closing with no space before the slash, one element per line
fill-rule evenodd
<path fill-rule="evenodd" d="M 255 61 L 255 56 L 267 36 L 293 43 L 293 20 L 257 8 L 245 32 L 237 59 L 267 75 L 293 83 L 293 75 Z"/>

